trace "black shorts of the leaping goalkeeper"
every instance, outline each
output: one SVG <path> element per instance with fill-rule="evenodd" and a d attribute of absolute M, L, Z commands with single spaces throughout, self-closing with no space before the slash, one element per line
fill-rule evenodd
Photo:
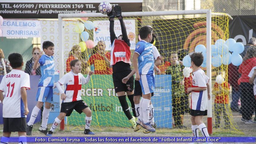
<path fill-rule="evenodd" d="M 114 88 L 115 88 L 116 93 L 117 92 L 127 92 L 127 91 L 132 92 L 133 91 L 133 89 L 134 89 L 134 82 L 133 82 L 134 77 L 133 76 L 131 76 L 131 78 L 126 83 L 122 82 L 122 79 L 125 78 L 127 75 L 129 75 L 130 72 L 131 72 L 131 69 L 129 71 L 115 72 L 112 74 Z"/>

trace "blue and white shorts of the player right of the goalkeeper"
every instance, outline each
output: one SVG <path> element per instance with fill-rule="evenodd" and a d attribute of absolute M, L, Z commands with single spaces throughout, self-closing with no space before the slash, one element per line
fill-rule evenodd
<path fill-rule="evenodd" d="M 144 95 L 154 92 L 155 77 L 153 74 L 140 75 L 140 85 Z"/>

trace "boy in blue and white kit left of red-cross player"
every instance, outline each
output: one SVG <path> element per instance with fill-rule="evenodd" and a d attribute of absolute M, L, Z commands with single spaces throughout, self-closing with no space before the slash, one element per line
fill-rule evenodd
<path fill-rule="evenodd" d="M 46 135 L 47 133 L 47 122 L 50 112 L 50 106 L 53 102 L 53 85 L 54 85 L 54 44 L 50 41 L 43 42 L 43 52 L 40 52 L 39 57 L 35 60 L 33 69 L 41 68 L 41 78 L 38 84 L 38 91 L 36 94 L 37 104 L 32 110 L 31 117 L 27 123 L 27 135 L 32 135 L 33 124 L 36 120 L 39 110 L 45 103 L 42 115 L 42 124 L 39 128 L 39 132 Z"/>

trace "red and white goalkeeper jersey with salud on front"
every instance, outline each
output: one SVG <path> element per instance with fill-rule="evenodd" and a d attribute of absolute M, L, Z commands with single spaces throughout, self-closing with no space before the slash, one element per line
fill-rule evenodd
<path fill-rule="evenodd" d="M 123 40 L 115 39 L 111 49 L 110 65 L 123 61 L 131 64 L 130 47 Z"/>

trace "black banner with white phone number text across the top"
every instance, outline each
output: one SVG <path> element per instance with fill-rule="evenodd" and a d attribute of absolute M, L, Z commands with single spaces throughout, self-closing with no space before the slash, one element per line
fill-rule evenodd
<path fill-rule="evenodd" d="M 46 0 L 47 1 L 47 0 Z M 98 13 L 99 4 L 101 1 L 96 0 L 91 3 L 81 3 L 78 2 L 50 2 L 45 3 L 46 1 L 30 1 L 30 2 L 3 2 L 0 1 L 0 15 L 3 18 L 58 18 L 60 13 Z M 102 0 L 104 1 L 104 0 Z M 65 2 L 62 1 L 62 2 Z M 86 1 L 85 1 L 86 2 Z M 97 2 L 97 3 L 96 3 Z M 120 5 L 123 12 L 142 12 L 142 1 L 133 0 L 132 2 L 118 2 L 118 1 L 109 1 L 111 5 Z M 131 5 L 132 8 L 131 8 Z"/>

